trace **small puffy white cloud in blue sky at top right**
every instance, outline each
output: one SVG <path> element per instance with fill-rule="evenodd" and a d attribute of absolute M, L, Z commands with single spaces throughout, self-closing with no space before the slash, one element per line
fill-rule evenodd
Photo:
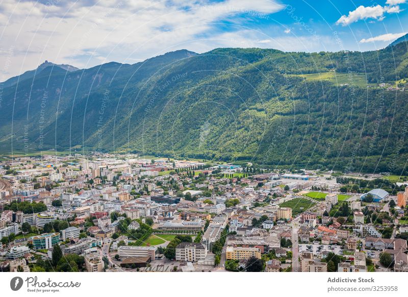
<path fill-rule="evenodd" d="M 389 0 L 389 1 L 398 1 L 398 0 Z M 399 13 L 401 9 L 399 6 L 381 6 L 377 4 L 376 6 L 363 6 L 360 5 L 353 11 L 349 11 L 348 15 L 342 15 L 336 22 L 336 24 L 342 24 L 343 26 L 347 26 L 350 23 L 361 19 L 368 19 L 374 18 L 378 20 L 382 20 L 385 18 L 385 13 Z"/>

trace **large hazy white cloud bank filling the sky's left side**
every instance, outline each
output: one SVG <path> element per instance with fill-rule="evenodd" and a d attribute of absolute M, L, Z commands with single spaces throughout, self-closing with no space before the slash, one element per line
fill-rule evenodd
<path fill-rule="evenodd" d="M 262 21 L 268 14 L 285 8 L 277 0 L 55 3 L 47 6 L 41 2 L 3 0 L 0 47 L 7 44 L 18 49 L 9 62 L 10 76 L 34 69 L 44 60 L 87 68 L 100 64 L 101 59 L 134 63 L 181 48 L 208 51 L 216 47 L 212 38 L 221 34 L 214 30 L 215 23 L 227 20 L 232 23 L 228 29 L 238 34 L 243 30 L 243 20 Z M 239 18 L 241 15 L 244 17 Z M 6 58 L 0 56 L 0 69 Z"/>

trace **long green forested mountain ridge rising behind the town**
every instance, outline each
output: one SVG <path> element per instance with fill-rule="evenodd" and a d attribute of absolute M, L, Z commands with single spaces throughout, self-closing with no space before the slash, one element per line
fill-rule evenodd
<path fill-rule="evenodd" d="M 47 67 L 4 88 L 0 151 L 406 174 L 407 64 L 400 42 L 363 53 L 218 48 L 71 72 Z"/>

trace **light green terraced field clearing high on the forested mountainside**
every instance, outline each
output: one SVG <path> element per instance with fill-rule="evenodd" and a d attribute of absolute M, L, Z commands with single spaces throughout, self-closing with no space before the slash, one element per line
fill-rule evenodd
<path fill-rule="evenodd" d="M 363 73 L 351 73 L 349 76 L 348 73 L 329 71 L 295 76 L 302 77 L 307 81 L 329 81 L 336 86 L 348 84 L 366 88 L 370 85 L 367 83 L 367 78 Z"/>

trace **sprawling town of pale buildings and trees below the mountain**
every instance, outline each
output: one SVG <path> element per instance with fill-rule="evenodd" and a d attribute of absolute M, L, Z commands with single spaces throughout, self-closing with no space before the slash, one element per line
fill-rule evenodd
<path fill-rule="evenodd" d="M 408 271 L 405 177 L 133 154 L 0 177 L 2 271 Z"/>

